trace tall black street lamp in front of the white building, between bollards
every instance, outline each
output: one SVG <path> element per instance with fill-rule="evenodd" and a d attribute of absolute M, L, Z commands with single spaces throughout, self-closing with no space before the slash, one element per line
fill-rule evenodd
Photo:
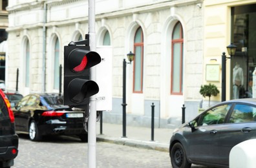
<path fill-rule="evenodd" d="M 134 60 L 133 52 L 127 54 L 127 58 L 130 61 L 129 64 Z M 126 64 L 127 62 L 123 59 L 123 138 L 126 138 Z"/>

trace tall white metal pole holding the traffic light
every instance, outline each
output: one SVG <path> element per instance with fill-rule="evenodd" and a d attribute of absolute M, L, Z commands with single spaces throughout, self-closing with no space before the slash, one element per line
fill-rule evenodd
<path fill-rule="evenodd" d="M 89 0 L 89 39 L 90 50 L 96 51 L 95 1 Z M 91 68 L 91 79 L 96 81 L 96 68 Z M 96 95 L 91 96 L 88 122 L 88 167 L 96 168 Z"/>

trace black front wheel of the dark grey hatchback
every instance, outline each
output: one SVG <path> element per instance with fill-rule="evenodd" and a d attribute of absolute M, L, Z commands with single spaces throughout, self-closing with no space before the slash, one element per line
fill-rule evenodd
<path fill-rule="evenodd" d="M 186 152 L 180 143 L 175 143 L 171 149 L 171 165 L 173 168 L 189 168 L 191 163 L 187 161 Z"/>

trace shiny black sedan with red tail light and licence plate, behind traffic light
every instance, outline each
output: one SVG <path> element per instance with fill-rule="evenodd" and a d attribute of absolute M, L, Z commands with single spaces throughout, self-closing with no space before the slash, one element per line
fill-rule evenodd
<path fill-rule="evenodd" d="M 44 135 L 76 135 L 87 142 L 84 129 L 84 111 L 74 111 L 63 105 L 56 94 L 28 94 L 13 108 L 17 133 L 29 134 L 39 141 Z"/>

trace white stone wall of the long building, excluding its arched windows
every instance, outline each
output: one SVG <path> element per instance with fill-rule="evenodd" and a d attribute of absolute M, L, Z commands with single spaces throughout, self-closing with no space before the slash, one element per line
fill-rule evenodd
<path fill-rule="evenodd" d="M 16 3 L 15 3 L 16 2 Z M 16 69 L 20 69 L 19 91 L 41 92 L 43 69 L 43 3 L 44 1 L 12 1 L 8 6 L 9 28 L 8 45 L 8 85 L 16 87 Z M 147 3 L 145 3 L 147 2 Z M 47 3 L 47 39 L 46 39 L 46 92 L 58 92 L 53 89 L 54 39 L 59 38 L 60 60 L 63 65 L 63 47 L 74 40 L 74 34 L 88 34 L 88 1 L 46 1 Z M 144 33 L 144 90 L 142 94 L 133 93 L 133 63 L 127 65 L 127 114 L 131 118 L 148 119 L 151 102 L 157 105 L 156 116 L 165 124 L 176 125 L 180 120 L 182 105 L 198 103 L 203 81 L 202 47 L 203 19 L 202 8 L 197 7 L 198 0 L 189 1 L 96 1 L 96 35 L 103 29 L 109 30 L 113 49 L 112 62 L 112 114 L 121 114 L 122 100 L 122 63 L 126 54 L 133 51 L 136 28 L 142 26 Z M 171 36 L 177 21 L 184 28 L 184 94 L 171 96 Z M 102 34 L 101 34 L 102 36 Z M 30 41 L 30 88 L 25 89 L 25 75 L 22 39 Z M 98 40 L 102 39 L 97 37 Z M 99 45 L 99 41 L 97 45 Z M 193 105 L 192 105 L 193 106 Z M 195 105 L 194 105 L 195 106 Z M 120 108 L 120 109 L 119 109 Z M 189 108 L 188 108 L 189 109 Z M 195 109 L 195 108 L 194 108 Z M 115 111 L 116 110 L 116 111 Z M 111 115 L 111 113 L 108 113 Z M 111 119 L 113 120 L 113 119 Z M 119 120 L 118 117 L 116 120 Z M 143 120 L 143 119 L 142 119 Z M 119 122 L 119 121 L 116 121 Z M 129 123 L 129 122 L 128 122 Z M 160 124 L 159 124 L 160 125 Z"/>

